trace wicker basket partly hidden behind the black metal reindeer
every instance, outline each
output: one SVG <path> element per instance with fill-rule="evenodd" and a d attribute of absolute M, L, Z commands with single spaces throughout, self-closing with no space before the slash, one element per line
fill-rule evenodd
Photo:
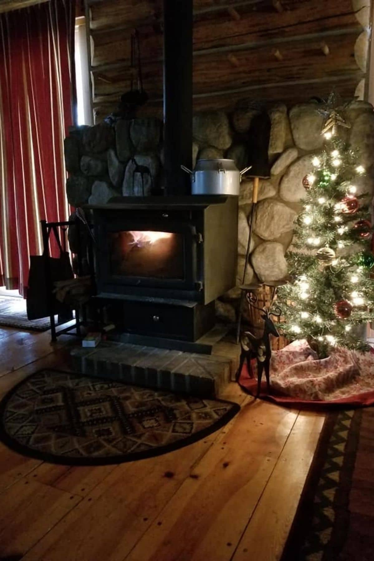
<path fill-rule="evenodd" d="M 253 291 L 253 293 L 255 293 L 255 295 L 257 296 L 256 306 L 260 309 L 266 306 L 266 308 L 269 309 L 271 295 L 273 294 L 273 288 L 262 285 L 261 288 Z M 243 306 L 243 327 L 245 327 L 245 323 L 249 324 L 253 335 L 255 335 L 256 337 L 261 337 L 262 333 L 264 332 L 264 320 L 261 318 L 261 310 L 256 310 L 251 306 L 248 307 L 247 301 L 245 300 L 243 302 Z M 277 323 L 281 323 L 282 321 L 284 321 L 284 318 L 282 317 L 277 318 L 275 316 L 271 316 L 271 319 L 274 321 L 275 327 Z M 287 339 L 283 337 L 283 335 L 280 335 L 280 337 L 274 337 L 274 335 L 270 335 L 270 341 L 273 351 L 279 351 L 288 344 Z"/>

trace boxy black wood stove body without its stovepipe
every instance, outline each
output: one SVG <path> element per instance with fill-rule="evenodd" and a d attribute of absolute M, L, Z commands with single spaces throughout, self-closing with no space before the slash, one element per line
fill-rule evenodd
<path fill-rule="evenodd" d="M 194 342 L 213 327 L 215 298 L 236 283 L 237 197 L 118 197 L 86 209 L 98 297 L 119 330 Z"/>

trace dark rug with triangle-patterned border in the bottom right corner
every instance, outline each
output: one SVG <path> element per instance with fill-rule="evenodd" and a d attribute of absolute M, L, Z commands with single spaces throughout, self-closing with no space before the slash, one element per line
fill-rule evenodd
<path fill-rule="evenodd" d="M 374 559 L 374 410 L 330 414 L 282 561 Z"/>

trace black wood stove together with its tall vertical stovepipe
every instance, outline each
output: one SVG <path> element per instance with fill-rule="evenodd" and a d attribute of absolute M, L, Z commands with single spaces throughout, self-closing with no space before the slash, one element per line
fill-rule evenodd
<path fill-rule="evenodd" d="M 86 209 L 97 297 L 121 340 L 189 350 L 179 343 L 214 326 L 215 298 L 236 284 L 238 198 L 188 195 L 181 164 L 191 168 L 193 4 L 163 5 L 167 196 L 118 197 Z"/>

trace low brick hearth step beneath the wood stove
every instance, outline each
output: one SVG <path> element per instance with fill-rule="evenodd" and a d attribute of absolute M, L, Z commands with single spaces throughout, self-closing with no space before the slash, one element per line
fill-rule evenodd
<path fill-rule="evenodd" d="M 230 381 L 233 359 L 127 343 L 74 348 L 73 369 L 82 374 L 149 388 L 217 397 Z"/>

